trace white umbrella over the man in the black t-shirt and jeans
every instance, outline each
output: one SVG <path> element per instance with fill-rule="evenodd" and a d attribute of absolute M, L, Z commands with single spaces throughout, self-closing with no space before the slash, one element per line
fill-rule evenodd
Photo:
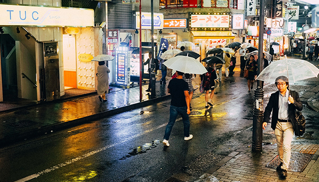
<path fill-rule="evenodd" d="M 164 62 L 164 65 L 183 73 L 204 74 L 206 68 L 194 58 L 188 56 L 176 56 Z"/>

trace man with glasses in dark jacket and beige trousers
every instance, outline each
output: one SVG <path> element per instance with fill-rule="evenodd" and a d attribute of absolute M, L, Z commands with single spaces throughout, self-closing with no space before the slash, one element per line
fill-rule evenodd
<path fill-rule="evenodd" d="M 282 177 L 287 177 L 291 157 L 291 141 L 296 123 L 295 112 L 296 109 L 301 111 L 303 106 L 298 93 L 287 89 L 289 82 L 286 76 L 277 77 L 275 84 L 278 91 L 271 94 L 269 98 L 262 128 L 265 129 L 267 126 L 272 111 L 271 128 L 276 135 L 277 151 L 281 162 L 277 171 L 281 172 Z"/>

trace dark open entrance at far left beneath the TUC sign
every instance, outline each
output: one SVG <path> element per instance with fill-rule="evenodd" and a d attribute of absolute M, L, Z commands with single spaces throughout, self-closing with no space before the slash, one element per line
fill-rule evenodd
<path fill-rule="evenodd" d="M 18 98 L 15 40 L 9 34 L 0 34 L 0 46 L 3 99 L 12 101 Z"/>

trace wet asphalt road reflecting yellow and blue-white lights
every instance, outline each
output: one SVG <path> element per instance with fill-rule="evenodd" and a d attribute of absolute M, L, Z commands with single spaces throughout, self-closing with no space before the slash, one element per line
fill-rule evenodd
<path fill-rule="evenodd" d="M 315 80 L 292 85 L 302 94 Z M 183 140 L 183 123 L 173 127 L 171 146 L 161 143 L 170 102 L 121 113 L 67 130 L 48 133 L 32 141 L 0 149 L 0 181 L 164 181 L 184 172 L 198 177 L 231 151 L 252 142 L 253 93 L 246 79 L 232 77 L 216 85 L 214 107 L 205 110 L 204 95 L 195 92 L 190 133 Z M 256 88 L 256 83 L 254 89 Z M 265 85 L 265 104 L 276 88 Z M 294 142 L 318 143 L 319 114 L 305 107 L 313 129 Z M 263 142 L 274 142 L 268 127 Z"/>

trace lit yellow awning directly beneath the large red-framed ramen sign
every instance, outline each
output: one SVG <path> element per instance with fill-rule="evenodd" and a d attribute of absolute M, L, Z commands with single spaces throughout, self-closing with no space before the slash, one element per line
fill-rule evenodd
<path fill-rule="evenodd" d="M 231 31 L 191 31 L 194 38 L 235 38 Z"/>

